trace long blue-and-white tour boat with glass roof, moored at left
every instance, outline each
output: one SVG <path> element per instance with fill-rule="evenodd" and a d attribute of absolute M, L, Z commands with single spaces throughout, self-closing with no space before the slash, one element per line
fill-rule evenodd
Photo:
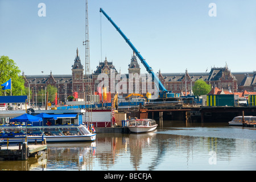
<path fill-rule="evenodd" d="M 90 133 L 85 126 L 28 126 L 1 127 L 0 139 L 2 143 L 19 143 L 42 141 L 46 142 L 86 142 L 96 140 L 96 134 Z"/>

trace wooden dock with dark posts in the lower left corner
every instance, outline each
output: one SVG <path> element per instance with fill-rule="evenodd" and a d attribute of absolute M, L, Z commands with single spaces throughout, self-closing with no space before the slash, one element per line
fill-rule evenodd
<path fill-rule="evenodd" d="M 46 140 L 42 144 L 11 144 L 1 146 L 0 160 L 27 160 L 30 156 L 35 156 L 39 151 L 47 151 Z"/>

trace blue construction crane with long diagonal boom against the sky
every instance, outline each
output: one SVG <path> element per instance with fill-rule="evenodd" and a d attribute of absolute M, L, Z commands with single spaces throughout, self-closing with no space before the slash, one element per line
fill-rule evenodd
<path fill-rule="evenodd" d="M 131 49 L 133 49 L 134 53 L 139 57 L 139 60 L 141 60 L 141 63 L 144 65 L 144 67 L 146 68 L 147 72 L 150 73 L 152 75 L 152 79 L 155 82 L 159 83 L 159 98 L 168 98 L 168 97 L 175 97 L 175 94 L 172 93 L 171 91 L 168 91 L 166 88 L 164 88 L 162 82 L 159 81 L 158 77 L 155 75 L 155 73 L 153 72 L 153 69 L 147 64 L 147 62 L 145 61 L 145 59 L 142 57 L 141 53 L 139 53 L 137 51 L 137 49 L 133 46 L 133 44 L 130 42 L 130 40 L 125 36 L 125 34 L 123 34 L 123 32 L 121 31 L 121 29 L 113 22 L 113 20 L 109 17 L 108 14 L 105 13 L 104 10 L 102 10 L 102 8 L 100 8 L 100 12 L 102 14 L 104 14 L 106 16 L 106 18 L 109 20 L 110 23 L 112 23 L 112 25 L 115 27 L 115 29 L 117 29 L 117 31 L 119 32 L 119 34 L 121 34 L 121 36 L 123 37 L 123 39 L 125 39 L 126 43 L 131 47 Z M 157 86 L 157 85 L 156 85 Z"/>

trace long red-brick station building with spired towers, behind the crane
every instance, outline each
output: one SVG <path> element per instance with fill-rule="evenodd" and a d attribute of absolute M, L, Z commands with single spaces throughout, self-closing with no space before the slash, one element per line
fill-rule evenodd
<path fill-rule="evenodd" d="M 129 77 L 129 74 L 132 75 L 143 75 L 141 73 L 141 68 L 138 64 L 137 57 L 133 54 L 131 56 L 130 64 L 128 65 L 128 73 L 121 73 L 115 69 L 113 62 L 109 62 L 107 58 L 103 62 L 99 62 L 96 70 L 90 75 L 92 80 L 92 92 L 94 94 L 102 94 L 102 79 L 99 78 L 101 73 L 105 73 L 106 78 L 108 79 L 108 90 L 111 89 L 115 91 L 116 86 L 119 86 L 119 89 L 126 90 L 127 93 L 120 93 L 123 97 L 126 97 L 129 93 L 133 93 L 134 90 L 138 90 L 139 93 L 146 96 L 146 90 L 143 90 L 142 82 L 144 81 L 143 77 Z M 201 79 L 207 82 L 207 84 L 212 85 L 213 88 L 217 87 L 220 90 L 229 91 L 229 92 L 243 92 L 244 90 L 255 91 L 256 90 L 256 72 L 250 73 L 232 73 L 228 66 L 226 65 L 223 68 L 213 67 L 210 69 L 210 72 L 199 72 L 199 73 L 189 73 L 187 70 L 184 73 L 161 73 L 158 72 L 159 80 L 162 82 L 164 87 L 167 90 L 170 90 L 174 93 L 183 93 L 191 94 L 193 90 L 191 88 L 195 84 L 195 81 Z M 72 96 L 74 93 L 77 93 L 80 100 L 85 99 L 85 78 L 84 68 L 81 64 L 79 51 L 76 50 L 75 60 L 73 61 L 71 75 L 53 75 L 52 72 L 49 75 L 24 75 L 25 87 L 30 88 L 32 96 L 32 103 L 36 104 L 38 101 L 38 93 L 42 93 L 42 90 L 46 90 L 47 85 L 52 85 L 57 88 L 57 98 L 58 104 L 65 104 L 68 96 Z M 121 78 L 126 78 L 125 84 L 120 84 Z M 147 79 L 147 77 L 146 77 Z M 105 80 L 106 81 L 106 80 Z M 123 80 L 122 80 L 123 81 Z M 137 84 L 135 84 L 135 82 Z M 123 83 L 123 82 L 122 82 Z M 133 86 L 133 88 L 129 88 Z M 120 84 L 120 85 L 117 85 Z M 154 85 L 154 82 L 153 84 Z M 126 86 L 126 88 L 123 88 Z M 137 89 L 135 89 L 137 88 Z M 99 90 L 100 89 L 100 90 Z M 129 90 L 133 89 L 133 90 Z M 187 92 L 185 92 L 187 91 Z M 114 92 L 115 93 L 115 92 Z M 113 95 L 109 94 L 110 98 L 113 98 Z"/>

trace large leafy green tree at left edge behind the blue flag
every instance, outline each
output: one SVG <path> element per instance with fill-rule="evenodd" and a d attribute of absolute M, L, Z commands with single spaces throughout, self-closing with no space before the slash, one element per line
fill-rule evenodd
<path fill-rule="evenodd" d="M 0 96 L 6 95 L 20 96 L 25 94 L 24 79 L 20 76 L 19 67 L 16 66 L 14 60 L 9 59 L 8 56 L 0 57 L 0 85 L 11 78 L 11 90 L 0 91 Z"/>

